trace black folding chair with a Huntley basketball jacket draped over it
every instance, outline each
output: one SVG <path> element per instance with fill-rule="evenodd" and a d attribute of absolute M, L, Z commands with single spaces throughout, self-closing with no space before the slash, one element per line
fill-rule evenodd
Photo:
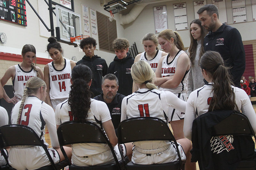
<path fill-rule="evenodd" d="M 233 112 L 226 119 L 212 127 L 212 136 L 221 135 L 249 135 L 254 136 L 254 139 L 256 139 L 251 123 L 248 118 L 240 112 Z M 256 161 L 242 160 L 236 169 L 255 170 Z"/>

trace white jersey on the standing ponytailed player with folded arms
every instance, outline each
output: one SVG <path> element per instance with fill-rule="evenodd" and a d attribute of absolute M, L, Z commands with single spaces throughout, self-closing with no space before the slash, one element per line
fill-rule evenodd
<path fill-rule="evenodd" d="M 172 61 L 168 61 L 168 58 L 170 56 L 170 54 L 168 54 L 163 62 L 162 62 L 162 70 L 161 70 L 161 76 L 162 77 L 166 77 L 166 76 L 173 76 L 174 73 L 175 73 L 175 70 L 176 70 L 176 66 L 177 66 L 177 60 L 179 58 L 179 56 L 182 54 L 182 53 L 185 53 L 185 51 L 182 51 L 180 50 L 176 56 L 173 58 Z M 169 63 L 168 63 L 169 62 Z M 190 69 L 189 69 L 190 70 Z M 159 90 L 163 90 L 163 91 L 170 91 L 170 92 L 173 92 L 173 93 L 182 93 L 182 92 L 187 92 L 188 90 L 188 86 L 187 86 L 187 80 L 188 80 L 188 73 L 189 73 L 189 70 L 185 72 L 180 84 L 173 88 L 173 89 L 167 89 L 167 88 L 159 88 Z"/>

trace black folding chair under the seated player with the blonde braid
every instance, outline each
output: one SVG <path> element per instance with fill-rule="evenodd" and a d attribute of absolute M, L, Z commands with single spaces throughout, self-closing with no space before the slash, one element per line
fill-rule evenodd
<path fill-rule="evenodd" d="M 54 164 L 52 157 L 44 144 L 44 142 L 38 137 L 36 132 L 26 125 L 4 125 L 0 127 L 0 148 L 1 153 L 4 155 L 4 158 L 8 163 L 7 155 L 4 152 L 4 147 L 8 146 L 16 146 L 16 145 L 31 145 L 31 146 L 42 146 L 46 155 L 51 162 L 51 165 L 43 166 L 38 168 L 37 170 L 60 170 L 64 169 L 64 167 L 68 166 L 66 161 L 62 161 L 58 164 Z M 22 155 L 21 155 L 22 156 Z M 29 158 L 28 158 L 29 159 Z M 10 165 L 9 165 L 10 166 Z M 10 170 L 15 170 L 11 166 Z"/>

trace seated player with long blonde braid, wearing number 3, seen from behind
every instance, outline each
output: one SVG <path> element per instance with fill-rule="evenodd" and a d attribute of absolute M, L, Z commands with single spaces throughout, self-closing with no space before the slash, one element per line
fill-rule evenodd
<path fill-rule="evenodd" d="M 44 138 L 45 125 L 47 125 L 52 144 L 52 148 L 48 148 L 48 150 L 54 163 L 59 163 L 65 158 L 60 151 L 54 111 L 52 107 L 44 103 L 46 90 L 44 80 L 38 77 L 30 78 L 26 83 L 23 99 L 12 109 L 11 122 L 12 124 L 22 124 L 32 128 L 48 147 L 49 145 Z M 72 149 L 70 147 L 64 149 L 68 157 L 71 158 Z M 10 147 L 8 161 L 17 170 L 37 169 L 51 165 L 41 146 L 12 146 Z"/>

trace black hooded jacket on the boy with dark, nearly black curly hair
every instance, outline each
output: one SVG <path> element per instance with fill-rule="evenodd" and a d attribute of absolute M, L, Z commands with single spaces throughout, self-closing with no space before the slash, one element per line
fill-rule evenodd
<path fill-rule="evenodd" d="M 84 57 L 76 63 L 76 65 L 78 64 L 87 65 L 92 70 L 92 85 L 90 87 L 90 91 L 94 96 L 100 95 L 102 93 L 102 76 L 105 76 L 108 71 L 106 60 L 100 58 L 98 55 L 94 55 L 92 58 L 84 55 Z M 94 96 L 92 96 L 92 98 Z"/>

